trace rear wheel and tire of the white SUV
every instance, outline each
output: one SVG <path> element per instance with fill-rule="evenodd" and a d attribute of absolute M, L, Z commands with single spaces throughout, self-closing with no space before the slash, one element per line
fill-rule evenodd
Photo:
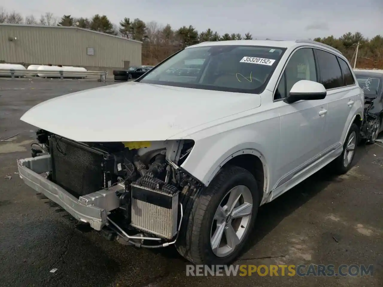
<path fill-rule="evenodd" d="M 352 124 L 344 142 L 342 154 L 330 163 L 331 169 L 335 174 L 345 174 L 350 170 L 355 157 L 359 132 L 358 126 Z"/>

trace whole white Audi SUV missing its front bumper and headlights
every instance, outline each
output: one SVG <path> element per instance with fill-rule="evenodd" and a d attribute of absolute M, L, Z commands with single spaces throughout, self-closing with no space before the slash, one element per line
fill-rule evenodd
<path fill-rule="evenodd" d="M 190 62 L 198 72 L 169 73 Z M 17 164 L 28 186 L 95 230 L 229 264 L 260 205 L 329 163 L 350 169 L 362 119 L 362 89 L 336 49 L 204 42 L 136 81 L 34 106 L 21 120 L 39 128 L 40 147 Z"/>

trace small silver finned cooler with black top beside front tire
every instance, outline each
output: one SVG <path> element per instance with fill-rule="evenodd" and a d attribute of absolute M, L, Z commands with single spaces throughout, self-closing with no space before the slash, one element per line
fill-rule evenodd
<path fill-rule="evenodd" d="M 169 194 L 131 184 L 131 226 L 171 239 L 177 233 L 178 192 Z"/>

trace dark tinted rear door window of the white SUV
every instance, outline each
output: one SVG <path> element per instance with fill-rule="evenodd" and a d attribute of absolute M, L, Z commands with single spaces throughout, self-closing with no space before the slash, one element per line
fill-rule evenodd
<path fill-rule="evenodd" d="M 315 54 L 318 59 L 321 83 L 326 90 L 344 86 L 336 55 L 319 49 L 315 49 Z"/>

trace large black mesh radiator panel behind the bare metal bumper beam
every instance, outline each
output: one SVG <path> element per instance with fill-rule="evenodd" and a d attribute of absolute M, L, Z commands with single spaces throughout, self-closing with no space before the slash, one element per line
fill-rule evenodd
<path fill-rule="evenodd" d="M 52 181 L 74 196 L 103 187 L 103 154 L 60 137 L 51 140 Z"/>

